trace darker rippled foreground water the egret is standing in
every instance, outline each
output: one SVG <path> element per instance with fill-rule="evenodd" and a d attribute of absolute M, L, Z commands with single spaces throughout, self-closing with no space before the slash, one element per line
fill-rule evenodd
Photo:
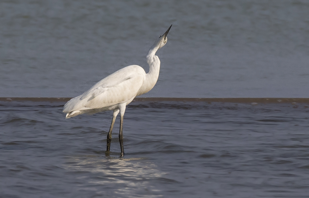
<path fill-rule="evenodd" d="M 0 101 L 0 197 L 307 197 L 308 104 L 133 102 L 112 112 Z"/>

